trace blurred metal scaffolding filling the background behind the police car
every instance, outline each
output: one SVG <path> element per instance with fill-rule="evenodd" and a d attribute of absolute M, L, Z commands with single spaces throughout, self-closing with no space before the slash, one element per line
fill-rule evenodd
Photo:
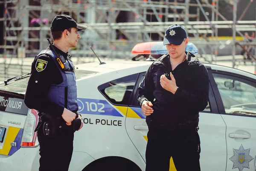
<path fill-rule="evenodd" d="M 105 59 L 131 59 L 134 45 L 162 41 L 166 28 L 177 23 L 186 28 L 204 61 L 256 65 L 255 0 L 0 0 L 0 11 L 3 78 L 11 77 L 13 68 L 13 75 L 30 72 L 24 61 L 48 47 L 50 25 L 58 14 L 88 26 L 70 50 L 81 57 L 77 63 L 95 56 L 90 47 Z M 19 60 L 17 65 L 13 59 Z"/>

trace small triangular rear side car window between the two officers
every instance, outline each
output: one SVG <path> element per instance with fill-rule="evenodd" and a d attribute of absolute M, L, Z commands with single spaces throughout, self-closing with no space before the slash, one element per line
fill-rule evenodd
<path fill-rule="evenodd" d="M 113 104 L 128 105 L 138 74 L 118 78 L 99 86 L 99 91 Z"/>

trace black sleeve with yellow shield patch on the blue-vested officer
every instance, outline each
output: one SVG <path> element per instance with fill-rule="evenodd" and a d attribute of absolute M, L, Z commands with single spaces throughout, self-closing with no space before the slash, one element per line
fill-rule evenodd
<path fill-rule="evenodd" d="M 64 107 L 47 99 L 55 72 L 59 71 L 56 70 L 56 64 L 52 58 L 39 56 L 34 60 L 24 100 L 27 107 L 51 115 L 62 115 Z"/>

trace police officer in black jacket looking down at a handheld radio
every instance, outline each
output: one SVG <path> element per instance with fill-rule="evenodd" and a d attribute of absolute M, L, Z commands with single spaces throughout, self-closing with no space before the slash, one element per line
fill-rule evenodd
<path fill-rule="evenodd" d="M 192 53 L 181 25 L 167 28 L 163 45 L 168 54 L 148 68 L 138 100 L 148 124 L 146 171 L 200 171 L 199 111 L 207 106 L 207 68 Z"/>

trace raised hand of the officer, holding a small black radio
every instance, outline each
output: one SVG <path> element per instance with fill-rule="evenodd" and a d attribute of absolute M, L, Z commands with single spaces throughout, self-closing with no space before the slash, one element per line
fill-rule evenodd
<path fill-rule="evenodd" d="M 171 77 L 171 80 L 169 80 L 168 78 L 166 78 L 165 75 L 162 75 L 160 77 L 160 84 L 161 86 L 171 92 L 172 94 L 175 94 L 176 93 L 176 90 L 177 90 L 177 85 L 176 85 L 176 81 L 175 81 L 175 78 L 174 76 L 172 75 L 172 73 L 170 73 L 170 77 Z"/>

